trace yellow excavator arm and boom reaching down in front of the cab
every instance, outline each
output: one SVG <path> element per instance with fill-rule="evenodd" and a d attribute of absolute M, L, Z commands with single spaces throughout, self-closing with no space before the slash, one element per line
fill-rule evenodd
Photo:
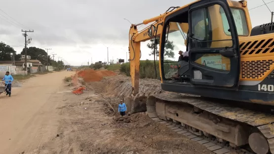
<path fill-rule="evenodd" d="M 174 11 L 174 10 L 173 10 Z M 172 12 L 172 11 L 171 11 Z M 130 61 L 130 76 L 132 83 L 132 94 L 135 96 L 139 92 L 139 78 L 140 78 L 140 58 L 141 50 L 140 45 L 142 41 L 147 41 L 155 37 L 160 37 L 162 32 L 162 25 L 164 17 L 170 12 L 165 12 L 159 16 L 156 16 L 151 19 L 144 20 L 140 24 L 132 24 L 129 30 L 129 61 Z M 137 26 L 142 24 L 149 24 L 154 22 L 152 25 L 146 27 L 142 31 L 138 31 Z M 169 33 L 173 31 L 180 31 L 181 34 L 187 34 L 188 32 L 188 23 L 172 23 L 169 25 Z M 149 31 L 153 37 L 149 36 Z M 186 44 L 186 41 L 185 41 Z"/>

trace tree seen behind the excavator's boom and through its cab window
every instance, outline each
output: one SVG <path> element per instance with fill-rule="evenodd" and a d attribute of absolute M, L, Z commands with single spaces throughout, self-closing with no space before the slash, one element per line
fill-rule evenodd
<path fill-rule="evenodd" d="M 158 42 L 159 41 L 159 38 L 156 38 Z M 154 55 L 154 45 L 155 45 L 155 39 L 151 39 L 150 40 L 151 42 L 147 44 L 147 47 L 150 48 L 152 51 L 151 53 L 149 54 L 150 56 L 151 55 Z M 157 44 L 156 46 L 156 57 L 159 56 L 159 44 Z M 174 58 L 174 44 L 173 44 L 173 41 L 169 41 L 167 40 L 166 43 L 164 44 L 164 56 L 167 56 L 168 58 Z"/>

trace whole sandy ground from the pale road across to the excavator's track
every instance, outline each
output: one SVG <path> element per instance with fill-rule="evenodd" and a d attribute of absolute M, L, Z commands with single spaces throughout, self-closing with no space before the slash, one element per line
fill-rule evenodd
<path fill-rule="evenodd" d="M 119 99 L 100 93 L 99 83 L 71 93 L 62 80 L 71 74 L 33 77 L 0 96 L 0 154 L 213 154 L 148 116 L 116 121 L 107 102 Z"/>

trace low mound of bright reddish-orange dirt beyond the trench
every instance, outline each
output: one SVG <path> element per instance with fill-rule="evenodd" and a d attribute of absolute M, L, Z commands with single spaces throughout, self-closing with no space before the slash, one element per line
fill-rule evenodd
<path fill-rule="evenodd" d="M 116 73 L 107 70 L 95 71 L 90 69 L 78 72 L 78 76 L 82 77 L 85 82 L 94 82 L 102 80 L 103 77 L 116 76 Z"/>

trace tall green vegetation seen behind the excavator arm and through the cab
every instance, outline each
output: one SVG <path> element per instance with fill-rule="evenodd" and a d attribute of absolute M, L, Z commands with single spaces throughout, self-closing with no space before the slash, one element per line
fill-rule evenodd
<path fill-rule="evenodd" d="M 169 73 L 171 69 L 171 65 L 177 65 L 177 62 L 173 61 L 165 61 L 170 63 L 164 63 L 164 73 Z M 160 77 L 159 74 L 159 61 L 156 61 L 156 70 L 157 77 Z M 125 73 L 126 76 L 130 76 L 130 63 L 124 63 L 120 67 L 120 72 Z M 155 77 L 155 67 L 153 60 L 141 60 L 140 61 L 140 78 L 156 78 Z"/>

